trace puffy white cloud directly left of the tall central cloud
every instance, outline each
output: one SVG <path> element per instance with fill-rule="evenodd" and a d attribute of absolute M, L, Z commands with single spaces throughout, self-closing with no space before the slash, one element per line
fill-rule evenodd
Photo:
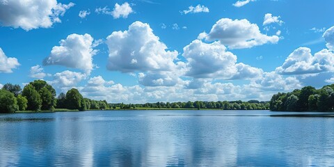
<path fill-rule="evenodd" d="M 43 65 L 63 65 L 84 70 L 90 74 L 93 70 L 93 56 L 97 50 L 93 49 L 93 38 L 89 34 L 78 35 L 73 33 L 59 42 L 45 58 Z"/>

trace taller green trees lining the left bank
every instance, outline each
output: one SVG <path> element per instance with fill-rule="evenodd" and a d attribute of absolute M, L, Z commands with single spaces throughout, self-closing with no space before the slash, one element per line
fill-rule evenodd
<path fill-rule="evenodd" d="M 106 100 L 84 98 L 79 90 L 72 88 L 56 98 L 56 90 L 46 81 L 35 80 L 26 84 L 23 90 L 19 85 L 5 84 L 0 90 L 0 113 L 15 111 L 54 111 L 70 109 L 85 111 L 87 109 L 106 109 Z"/>

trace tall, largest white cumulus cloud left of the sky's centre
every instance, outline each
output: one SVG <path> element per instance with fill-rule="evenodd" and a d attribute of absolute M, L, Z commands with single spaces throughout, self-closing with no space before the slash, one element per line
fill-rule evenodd
<path fill-rule="evenodd" d="M 108 70 L 120 72 L 170 71 L 176 65 L 177 51 L 154 35 L 148 24 L 134 22 L 127 31 L 114 31 L 106 38 L 109 48 Z"/>

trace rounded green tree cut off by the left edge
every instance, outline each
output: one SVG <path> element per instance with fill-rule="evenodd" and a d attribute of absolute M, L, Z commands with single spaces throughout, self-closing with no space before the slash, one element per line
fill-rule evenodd
<path fill-rule="evenodd" d="M 13 93 L 10 91 L 1 89 L 0 90 L 0 113 L 14 113 L 19 110 L 17 101 Z"/>

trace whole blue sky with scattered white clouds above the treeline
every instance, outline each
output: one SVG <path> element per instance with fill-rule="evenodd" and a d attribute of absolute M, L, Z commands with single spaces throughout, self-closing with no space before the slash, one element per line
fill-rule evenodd
<path fill-rule="evenodd" d="M 108 102 L 270 100 L 334 83 L 334 1 L 0 0 L 0 87 Z"/>

